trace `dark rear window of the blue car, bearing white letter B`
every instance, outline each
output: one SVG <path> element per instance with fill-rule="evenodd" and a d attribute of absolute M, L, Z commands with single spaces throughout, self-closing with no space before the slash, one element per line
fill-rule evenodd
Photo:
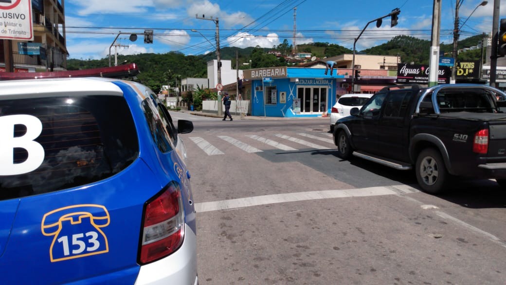
<path fill-rule="evenodd" d="M 139 155 L 120 96 L 0 100 L 0 200 L 87 185 Z"/>

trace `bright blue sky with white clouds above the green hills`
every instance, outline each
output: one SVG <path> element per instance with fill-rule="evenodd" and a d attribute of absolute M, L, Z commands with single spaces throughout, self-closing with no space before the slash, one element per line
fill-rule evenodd
<path fill-rule="evenodd" d="M 455 1 L 441 0 L 440 42 L 453 41 Z M 473 10 L 483 0 L 459 0 L 460 39 L 482 32 L 491 33 L 494 0 Z M 495 0 L 499 1 L 499 0 Z M 270 48 L 285 39 L 292 44 L 294 9 L 296 43 L 328 42 L 353 48 L 354 39 L 367 22 L 399 8 L 398 25 L 390 27 L 390 17 L 376 28 L 370 23 L 357 41 L 357 51 L 376 46 L 396 35 L 430 40 L 432 0 L 67 0 L 65 21 L 70 58 L 107 57 L 114 39 L 121 33 L 139 33 L 131 42 L 129 34 L 120 34 L 115 44 L 118 54 L 166 53 L 187 55 L 215 50 L 215 21 L 220 26 L 221 47 L 261 46 Z M 469 17 L 469 18 L 468 18 Z M 500 0 L 500 17 L 506 18 L 506 0 Z M 466 20 L 467 22 L 463 24 Z M 463 24 L 463 25 L 462 25 Z M 154 30 L 154 43 L 144 44 L 142 33 Z M 198 32 L 191 31 L 192 29 Z M 199 33 L 200 32 L 200 33 Z M 202 35 L 204 37 L 202 37 Z M 207 39 L 207 40 L 206 40 Z M 213 43 L 213 45 L 211 45 Z M 115 48 L 111 49 L 114 55 Z M 428 51 L 429 52 L 429 51 Z"/>

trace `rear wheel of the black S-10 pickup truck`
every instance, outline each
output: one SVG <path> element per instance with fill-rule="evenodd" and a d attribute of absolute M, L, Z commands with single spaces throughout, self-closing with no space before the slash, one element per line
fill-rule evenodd
<path fill-rule="evenodd" d="M 431 194 L 440 194 L 445 190 L 449 179 L 441 154 L 435 149 L 425 149 L 416 159 L 416 180 L 420 188 Z"/>

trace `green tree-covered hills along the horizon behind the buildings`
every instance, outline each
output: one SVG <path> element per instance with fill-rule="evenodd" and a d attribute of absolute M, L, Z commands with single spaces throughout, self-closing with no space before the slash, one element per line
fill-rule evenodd
<path fill-rule="evenodd" d="M 459 41 L 458 47 L 461 49 L 477 46 L 481 40 L 482 35 L 476 35 Z M 430 41 L 416 39 L 407 35 L 400 35 L 385 44 L 365 49 L 357 53 L 371 55 L 399 55 L 401 57 L 401 62 L 429 64 L 430 47 Z M 283 66 L 287 64 L 283 57 L 276 58 L 276 56 L 267 53 L 271 50 L 279 51 L 281 54 L 288 54 L 291 51 L 291 46 L 288 45 L 285 40 L 283 44 L 274 46 L 271 49 L 260 47 L 248 47 L 245 49 L 224 47 L 220 49 L 221 58 L 231 60 L 233 67 L 235 67 L 236 64 L 237 53 L 238 66 L 240 69 L 249 68 L 249 60 L 251 60 L 251 68 Z M 299 52 L 310 52 L 312 55 L 319 58 L 353 53 L 353 51 L 348 48 L 328 43 L 298 45 L 297 50 Z M 447 53 L 448 55 L 446 56 L 448 57 L 451 57 L 452 50 L 453 45 L 451 44 L 440 45 L 440 51 Z M 458 60 L 479 60 L 480 56 L 481 49 L 475 49 L 459 53 Z M 137 55 L 118 55 L 118 62 L 126 60 L 128 62 L 137 63 L 141 72 L 137 76 L 138 80 L 149 86 L 155 92 L 160 90 L 162 85 L 169 84 L 176 86 L 177 84 L 180 84 L 182 78 L 206 77 L 207 61 L 213 59 L 216 59 L 216 53 L 197 56 L 184 55 L 179 52 L 169 52 L 165 54 L 144 53 Z M 69 70 L 105 66 L 109 66 L 109 59 L 107 57 L 98 60 L 67 60 L 67 68 Z"/>

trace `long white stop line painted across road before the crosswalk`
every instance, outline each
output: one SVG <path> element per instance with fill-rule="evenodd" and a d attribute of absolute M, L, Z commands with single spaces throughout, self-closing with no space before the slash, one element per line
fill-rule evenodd
<path fill-rule="evenodd" d="M 298 193 L 272 194 L 255 197 L 245 197 L 239 199 L 230 199 L 213 202 L 195 203 L 197 212 L 208 212 L 226 209 L 236 209 L 250 206 L 259 206 L 275 203 L 286 203 L 306 200 L 318 200 L 329 198 L 349 198 L 349 197 L 367 197 L 379 195 L 395 195 L 395 191 L 387 187 L 369 187 L 362 189 L 346 189 L 346 190 L 324 190 L 324 191 L 308 191 Z"/>

